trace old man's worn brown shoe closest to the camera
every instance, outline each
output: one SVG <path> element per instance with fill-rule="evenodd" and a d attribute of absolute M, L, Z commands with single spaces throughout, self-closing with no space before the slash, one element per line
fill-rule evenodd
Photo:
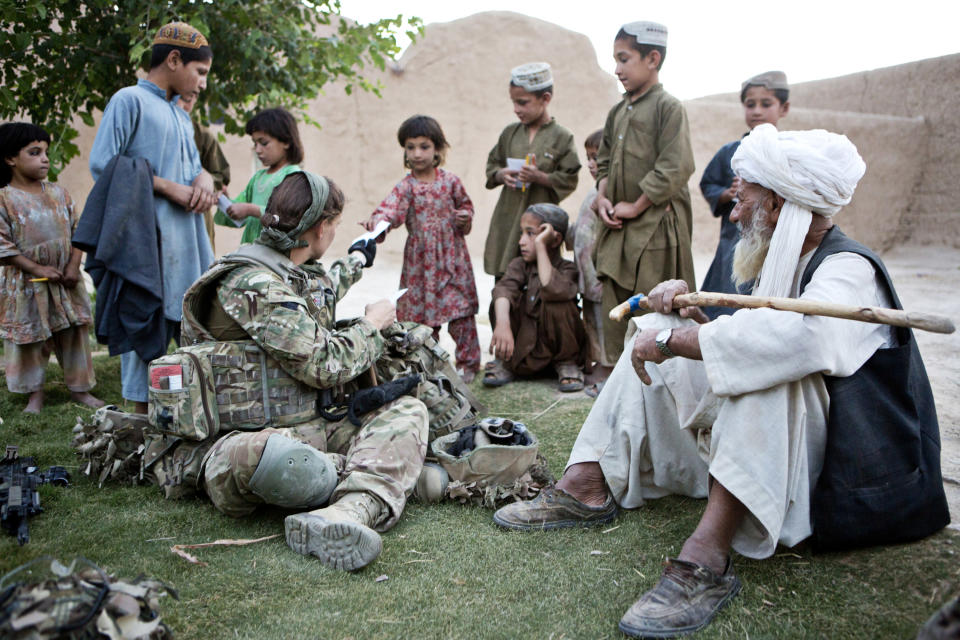
<path fill-rule="evenodd" d="M 660 581 L 620 619 L 620 631 L 634 638 L 673 638 L 707 626 L 740 591 L 727 558 L 723 575 L 693 562 L 668 558 Z"/>

